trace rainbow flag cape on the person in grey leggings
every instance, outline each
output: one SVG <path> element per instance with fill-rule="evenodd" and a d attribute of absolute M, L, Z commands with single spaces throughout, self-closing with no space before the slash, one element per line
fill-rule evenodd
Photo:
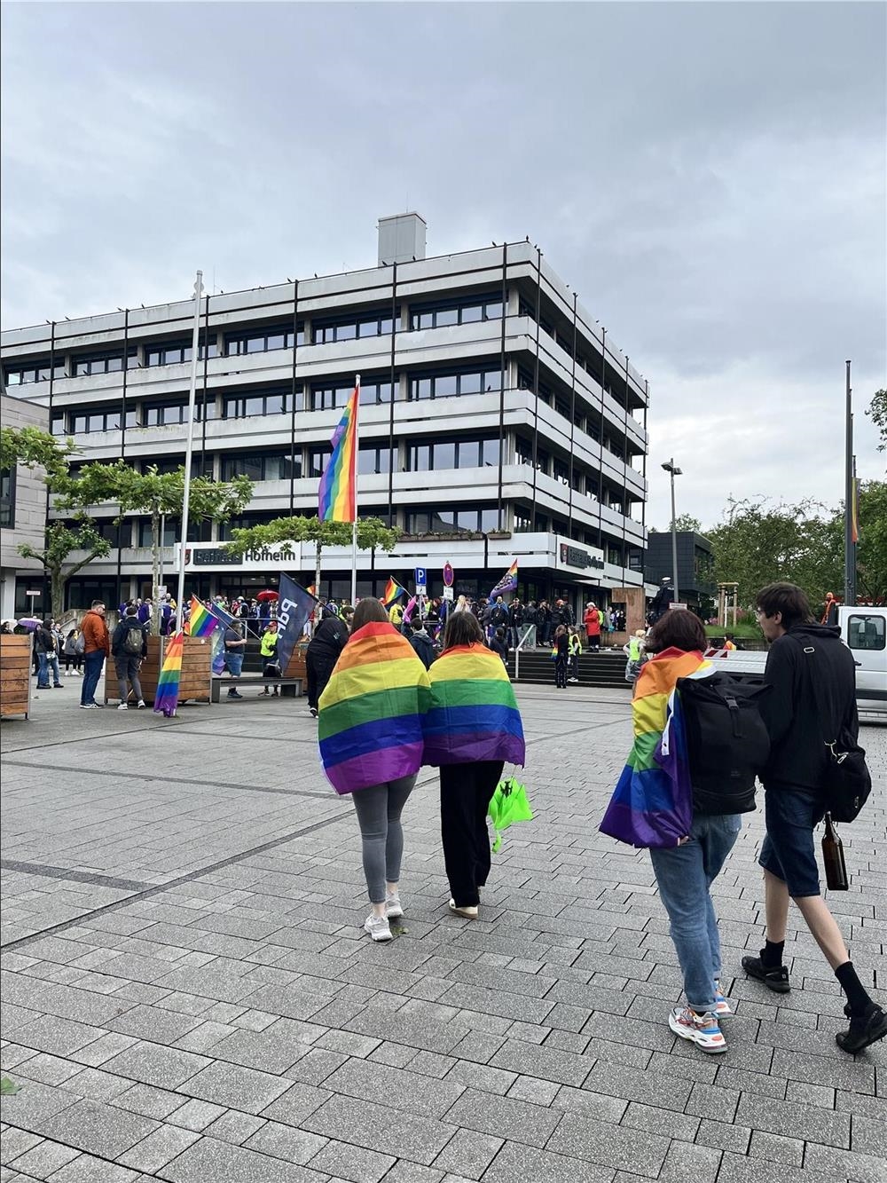
<path fill-rule="evenodd" d="M 419 771 L 429 697 L 425 666 L 393 625 L 351 634 L 318 704 L 321 761 L 336 793 Z"/>

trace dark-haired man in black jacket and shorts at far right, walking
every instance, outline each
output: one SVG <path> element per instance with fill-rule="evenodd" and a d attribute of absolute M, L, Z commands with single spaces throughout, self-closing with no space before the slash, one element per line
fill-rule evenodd
<path fill-rule="evenodd" d="M 847 996 L 849 1029 L 835 1035 L 850 1054 L 887 1035 L 887 1014 L 872 1000 L 850 961 L 841 930 L 820 892 L 814 829 L 824 816 L 822 786 L 829 768 L 828 736 L 856 743 L 856 672 L 837 626 L 817 625 L 810 603 L 794 583 L 769 583 L 756 597 L 758 623 L 770 641 L 764 683 L 772 686 L 760 706 L 770 732 L 764 786 L 766 931 L 758 957 L 743 969 L 776 994 L 791 989 L 783 964 L 789 900 L 797 905 L 837 983 Z M 681 616 L 688 613 L 680 613 Z M 829 718 L 820 717 L 815 685 Z"/>

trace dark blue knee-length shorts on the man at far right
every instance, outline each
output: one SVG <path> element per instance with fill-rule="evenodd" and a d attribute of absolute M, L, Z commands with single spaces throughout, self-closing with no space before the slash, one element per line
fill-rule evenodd
<path fill-rule="evenodd" d="M 814 829 L 826 810 L 815 793 L 779 786 L 764 794 L 766 838 L 760 847 L 760 866 L 782 879 L 789 896 L 818 896 L 820 868 L 814 848 Z"/>

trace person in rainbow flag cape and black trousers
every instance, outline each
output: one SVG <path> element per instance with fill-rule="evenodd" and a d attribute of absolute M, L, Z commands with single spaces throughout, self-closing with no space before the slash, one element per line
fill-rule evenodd
<path fill-rule="evenodd" d="M 509 674 L 470 612 L 455 613 L 428 671 L 432 705 L 422 763 L 440 768 L 440 823 L 449 910 L 475 919 L 490 874 L 486 815 L 505 761 L 523 765 L 524 729 Z"/>

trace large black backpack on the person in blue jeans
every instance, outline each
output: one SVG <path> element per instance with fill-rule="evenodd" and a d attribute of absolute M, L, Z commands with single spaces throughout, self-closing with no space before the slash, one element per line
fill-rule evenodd
<path fill-rule="evenodd" d="M 770 736 L 758 703 L 771 690 L 724 671 L 678 679 L 694 813 L 755 809 L 755 778 L 770 757 Z"/>

